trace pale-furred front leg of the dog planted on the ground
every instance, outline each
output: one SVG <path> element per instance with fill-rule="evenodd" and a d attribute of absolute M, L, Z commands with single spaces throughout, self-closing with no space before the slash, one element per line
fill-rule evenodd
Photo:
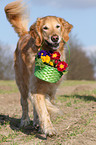
<path fill-rule="evenodd" d="M 43 130 L 45 135 L 49 135 L 49 136 L 54 135 L 56 132 L 55 132 L 55 129 L 53 128 L 49 113 L 46 108 L 45 95 L 34 94 L 33 103 L 39 117 L 39 123 L 40 123 L 41 129 Z"/>

